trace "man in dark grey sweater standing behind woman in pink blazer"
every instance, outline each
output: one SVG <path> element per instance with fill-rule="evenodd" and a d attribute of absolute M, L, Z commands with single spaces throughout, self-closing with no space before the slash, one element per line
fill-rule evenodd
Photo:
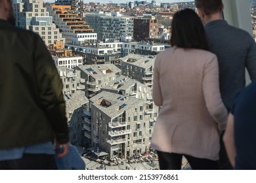
<path fill-rule="evenodd" d="M 205 24 L 210 51 L 219 61 L 221 97 L 230 112 L 234 97 L 245 87 L 245 67 L 251 80 L 256 80 L 256 44 L 249 33 L 223 20 L 221 0 L 195 0 L 195 5 Z M 222 138 L 219 166 L 220 169 L 232 169 Z"/>

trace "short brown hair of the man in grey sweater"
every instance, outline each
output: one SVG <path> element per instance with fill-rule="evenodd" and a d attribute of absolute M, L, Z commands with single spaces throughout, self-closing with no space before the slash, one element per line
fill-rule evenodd
<path fill-rule="evenodd" d="M 195 5 L 208 16 L 223 9 L 222 0 L 195 0 Z"/>

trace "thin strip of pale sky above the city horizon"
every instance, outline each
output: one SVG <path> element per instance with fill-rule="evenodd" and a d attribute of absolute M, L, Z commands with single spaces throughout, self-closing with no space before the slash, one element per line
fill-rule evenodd
<path fill-rule="evenodd" d="M 54 2 L 55 0 L 44 0 L 45 2 Z M 127 2 L 133 2 L 133 0 L 112 0 L 113 3 L 127 3 Z M 139 1 L 147 1 L 148 3 L 151 3 L 152 0 L 139 0 Z M 188 2 L 188 1 L 194 1 L 194 0 L 156 0 L 156 3 L 177 3 L 177 2 Z M 84 3 L 89 2 L 98 2 L 98 3 L 109 3 L 109 0 L 83 0 Z"/>

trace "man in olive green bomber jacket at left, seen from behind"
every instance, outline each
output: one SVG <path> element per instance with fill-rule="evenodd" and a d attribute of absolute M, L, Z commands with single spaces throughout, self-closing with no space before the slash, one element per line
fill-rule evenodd
<path fill-rule="evenodd" d="M 14 27 L 11 0 L 0 0 L 0 169 L 56 169 L 69 148 L 62 81 L 39 35 Z"/>

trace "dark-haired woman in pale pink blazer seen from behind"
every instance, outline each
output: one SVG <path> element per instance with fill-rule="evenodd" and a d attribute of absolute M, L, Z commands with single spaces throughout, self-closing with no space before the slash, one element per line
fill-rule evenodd
<path fill-rule="evenodd" d="M 151 146 L 160 169 L 218 169 L 219 134 L 227 111 L 219 91 L 219 67 L 208 52 L 202 22 L 191 9 L 173 16 L 171 48 L 158 54 L 153 99 L 160 113 Z"/>

